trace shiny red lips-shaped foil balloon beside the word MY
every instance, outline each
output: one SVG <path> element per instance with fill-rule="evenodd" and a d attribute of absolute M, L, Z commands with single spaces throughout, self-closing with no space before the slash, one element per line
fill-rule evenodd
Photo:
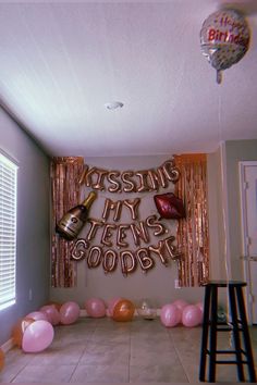
<path fill-rule="evenodd" d="M 183 201 L 173 192 L 156 195 L 154 199 L 161 218 L 166 220 L 181 220 L 185 218 Z"/>

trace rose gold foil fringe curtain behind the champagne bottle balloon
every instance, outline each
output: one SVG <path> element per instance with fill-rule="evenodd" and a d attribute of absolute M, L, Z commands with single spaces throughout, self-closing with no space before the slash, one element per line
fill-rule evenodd
<path fill-rule="evenodd" d="M 52 287 L 76 285 L 76 263 L 70 259 L 71 243 L 56 234 L 57 222 L 72 207 L 79 202 L 79 177 L 84 159 L 81 157 L 57 157 L 51 162 L 52 191 Z"/>

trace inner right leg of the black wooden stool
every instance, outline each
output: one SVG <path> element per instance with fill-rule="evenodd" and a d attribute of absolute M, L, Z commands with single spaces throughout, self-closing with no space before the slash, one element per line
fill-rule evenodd
<path fill-rule="evenodd" d="M 241 382 L 245 381 L 244 376 L 244 368 L 243 368 L 243 357 L 242 357 L 242 347 L 240 339 L 240 328 L 238 328 L 238 320 L 237 320 L 237 311 L 236 311 L 236 301 L 235 301 L 235 287 L 229 285 L 229 297 L 230 297 L 230 310 L 232 316 L 232 325 L 233 325 L 233 339 L 234 339 L 234 349 L 236 357 L 236 368 L 237 368 L 237 377 Z"/>

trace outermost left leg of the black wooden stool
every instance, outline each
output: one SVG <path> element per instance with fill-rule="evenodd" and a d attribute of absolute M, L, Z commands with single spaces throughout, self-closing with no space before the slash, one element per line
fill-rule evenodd
<path fill-rule="evenodd" d="M 207 285 L 205 288 L 205 303 L 204 303 L 204 319 L 203 319 L 203 331 L 201 331 L 201 349 L 200 349 L 200 370 L 199 370 L 199 381 L 205 382 L 206 373 L 206 356 L 207 356 L 207 344 L 208 344 L 208 333 L 209 333 L 209 314 L 210 314 L 210 286 Z"/>

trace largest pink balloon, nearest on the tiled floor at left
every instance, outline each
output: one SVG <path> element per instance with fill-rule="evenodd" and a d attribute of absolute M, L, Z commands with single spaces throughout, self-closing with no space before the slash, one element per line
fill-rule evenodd
<path fill-rule="evenodd" d="M 25 352 L 42 351 L 52 343 L 53 334 L 50 322 L 35 321 L 27 326 L 23 334 L 22 348 Z"/>

